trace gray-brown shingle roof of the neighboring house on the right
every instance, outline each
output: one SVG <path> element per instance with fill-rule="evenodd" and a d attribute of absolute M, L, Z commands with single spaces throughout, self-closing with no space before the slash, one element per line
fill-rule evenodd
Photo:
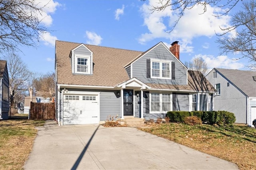
<path fill-rule="evenodd" d="M 256 97 L 256 81 L 253 79 L 253 76 L 256 76 L 256 72 L 224 68 L 214 69 L 248 97 Z"/>

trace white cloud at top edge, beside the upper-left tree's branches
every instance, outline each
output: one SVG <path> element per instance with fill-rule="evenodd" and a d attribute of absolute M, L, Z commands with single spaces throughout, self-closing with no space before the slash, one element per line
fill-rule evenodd
<path fill-rule="evenodd" d="M 36 13 L 39 20 L 41 20 L 41 23 L 50 26 L 52 24 L 52 17 L 50 14 L 53 14 L 58 6 L 61 6 L 58 2 L 54 2 L 53 0 L 35 0 L 34 4 L 38 8 L 42 8 L 44 12 L 42 13 Z"/>

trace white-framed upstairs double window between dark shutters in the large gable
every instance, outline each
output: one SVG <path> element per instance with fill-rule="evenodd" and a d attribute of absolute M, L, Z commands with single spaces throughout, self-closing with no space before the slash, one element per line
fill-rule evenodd
<path fill-rule="evenodd" d="M 171 61 L 154 61 L 151 62 L 152 78 L 171 78 Z"/>

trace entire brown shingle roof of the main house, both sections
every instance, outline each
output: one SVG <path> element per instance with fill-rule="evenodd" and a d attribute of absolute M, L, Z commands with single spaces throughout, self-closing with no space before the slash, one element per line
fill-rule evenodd
<path fill-rule="evenodd" d="M 93 75 L 72 74 L 70 51 L 80 45 L 56 41 L 57 83 L 88 86 L 114 87 L 129 80 L 124 68 L 127 63 L 141 56 L 141 51 L 131 51 L 97 45 L 86 45 L 93 52 Z M 214 92 L 214 87 L 201 72 L 188 71 L 188 85 L 150 84 L 151 88 Z"/>

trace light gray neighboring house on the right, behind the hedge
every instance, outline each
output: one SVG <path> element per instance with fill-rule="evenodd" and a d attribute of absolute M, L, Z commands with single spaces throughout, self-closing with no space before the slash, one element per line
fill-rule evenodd
<path fill-rule="evenodd" d="M 252 125 L 256 119 L 256 72 L 214 68 L 206 78 L 217 90 L 214 110 L 230 111 L 236 123 Z"/>

